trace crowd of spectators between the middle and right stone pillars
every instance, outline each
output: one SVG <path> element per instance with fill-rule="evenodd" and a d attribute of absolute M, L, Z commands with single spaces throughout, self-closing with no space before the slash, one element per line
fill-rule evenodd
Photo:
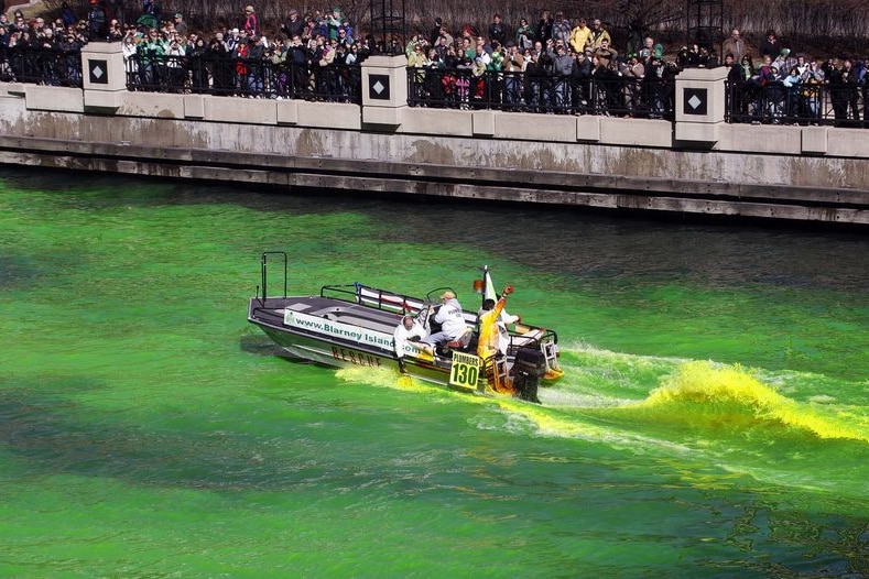
<path fill-rule="evenodd" d="M 411 103 L 421 106 L 663 118 L 680 70 L 652 37 L 620 54 L 600 20 L 573 23 L 548 10 L 533 25 L 495 14 L 485 34 L 464 26 L 454 35 L 438 18 L 405 54 Z"/>

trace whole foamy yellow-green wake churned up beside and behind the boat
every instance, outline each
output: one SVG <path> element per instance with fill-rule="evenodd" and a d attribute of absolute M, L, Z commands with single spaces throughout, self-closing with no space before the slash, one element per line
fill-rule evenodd
<path fill-rule="evenodd" d="M 688 433 L 692 439 L 705 440 L 752 434 L 763 439 L 799 436 L 869 443 L 869 416 L 818 403 L 818 396 L 808 402 L 785 396 L 781 393 L 787 386 L 785 373 L 763 376 L 738 364 L 631 356 L 585 343 L 563 348 L 562 353 L 565 378 L 540 390 L 541 405 L 468 396 L 388 370 L 346 368 L 337 375 L 381 387 L 446 392 L 447 397 L 441 398 L 445 401 L 455 396 L 487 404 L 510 415 L 508 429 L 532 436 L 643 440 L 667 448 L 685 448 L 682 441 L 669 440 L 681 440 Z"/>

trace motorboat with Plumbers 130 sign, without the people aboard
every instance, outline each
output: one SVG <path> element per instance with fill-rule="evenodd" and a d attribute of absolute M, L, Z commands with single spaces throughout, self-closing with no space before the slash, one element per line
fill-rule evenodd
<path fill-rule="evenodd" d="M 283 291 L 280 295 L 270 295 L 270 276 L 279 277 L 280 273 L 270 272 L 270 265 L 275 263 L 274 266 L 282 269 Z M 403 351 L 397 352 L 394 331 L 405 316 L 411 316 L 431 334 L 439 330 L 433 313 L 439 296 L 455 295 L 452 287 L 436 287 L 425 296 L 410 296 L 357 282 L 324 285 L 313 295 L 289 295 L 289 270 L 285 252 L 262 253 L 261 286 L 257 286 L 254 297 L 250 298 L 248 321 L 258 326 L 292 359 L 337 368 L 398 370 L 450 389 L 514 396 L 535 403 L 540 403 L 539 386 L 552 383 L 564 373 L 558 364 L 556 332 L 524 320 L 515 321 L 512 327 L 501 325 L 503 347 L 491 356 L 478 356 L 478 312 L 466 309 L 461 312 L 466 339 L 437 348 L 419 340 L 401 340 Z M 482 304 L 498 296 L 488 266 L 481 267 L 481 272 L 474 288 Z M 510 292 L 512 286 L 504 287 L 503 299 L 498 299 L 501 307 Z"/>

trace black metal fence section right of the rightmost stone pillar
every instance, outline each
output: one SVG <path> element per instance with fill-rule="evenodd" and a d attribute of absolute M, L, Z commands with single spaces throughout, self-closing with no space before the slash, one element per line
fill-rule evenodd
<path fill-rule="evenodd" d="M 726 84 L 727 122 L 867 127 L 869 85 Z"/>

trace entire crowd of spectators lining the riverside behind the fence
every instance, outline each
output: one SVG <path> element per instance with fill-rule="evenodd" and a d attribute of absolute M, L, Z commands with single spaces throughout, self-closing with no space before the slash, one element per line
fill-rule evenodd
<path fill-rule="evenodd" d="M 82 46 L 109 41 L 122 43 L 133 90 L 357 101 L 359 63 L 403 53 L 412 106 L 666 118 L 678 72 L 726 66 L 732 122 L 868 120 L 869 62 L 811 58 L 773 31 L 757 55 L 734 30 L 720 58 L 714 47 L 696 44 L 667 57 L 650 36 L 622 48 L 599 19 L 572 21 L 561 11 L 518 23 L 495 14 L 485 31 L 450 30 L 437 18 L 428 33 L 383 45 L 363 37 L 339 8 L 292 9 L 267 34 L 249 4 L 237 25 L 206 35 L 191 30 L 183 13 L 164 13 L 160 0 L 143 0 L 135 14 L 124 14 L 122 6 L 88 0 L 87 12 L 77 14 L 64 3 L 48 21 L 25 20 L 20 10 L 0 14 L 0 79 L 80 86 Z"/>

